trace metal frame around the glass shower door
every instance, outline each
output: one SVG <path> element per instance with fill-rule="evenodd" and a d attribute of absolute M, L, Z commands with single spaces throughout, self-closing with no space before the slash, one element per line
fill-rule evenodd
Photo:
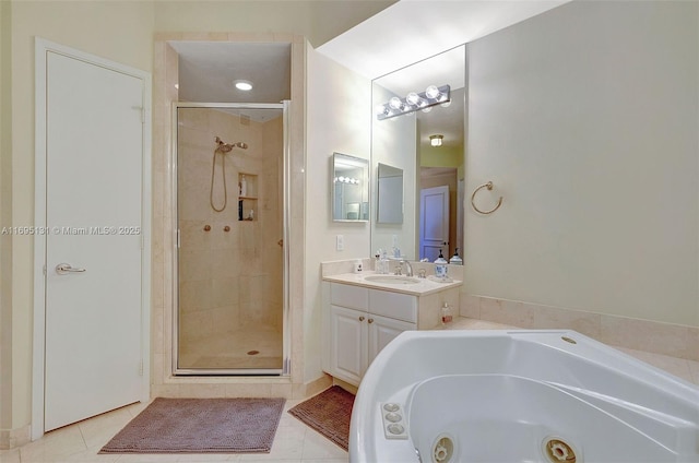
<path fill-rule="evenodd" d="M 291 313 L 289 313 L 289 210 L 291 210 L 291 147 L 289 147 L 289 100 L 282 103 L 192 103 L 173 102 L 171 105 L 171 158 L 170 158 L 170 198 L 173 199 L 173 376 L 179 377 L 240 377 L 240 376 L 291 376 Z M 282 368 L 179 368 L 179 218 L 177 201 L 177 112 L 180 108 L 212 108 L 212 109 L 281 109 L 282 110 Z"/>

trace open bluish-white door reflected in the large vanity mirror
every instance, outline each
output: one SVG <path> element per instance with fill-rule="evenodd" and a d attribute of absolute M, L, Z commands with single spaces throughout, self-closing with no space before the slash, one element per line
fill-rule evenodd
<path fill-rule="evenodd" d="M 441 249 L 449 260 L 449 187 L 420 190 L 419 203 L 419 258 L 434 262 Z"/>

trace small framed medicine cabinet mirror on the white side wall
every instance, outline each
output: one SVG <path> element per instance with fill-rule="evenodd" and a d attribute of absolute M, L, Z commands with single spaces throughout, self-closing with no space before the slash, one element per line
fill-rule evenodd
<path fill-rule="evenodd" d="M 369 161 L 342 153 L 332 155 L 332 219 L 369 221 Z"/>

